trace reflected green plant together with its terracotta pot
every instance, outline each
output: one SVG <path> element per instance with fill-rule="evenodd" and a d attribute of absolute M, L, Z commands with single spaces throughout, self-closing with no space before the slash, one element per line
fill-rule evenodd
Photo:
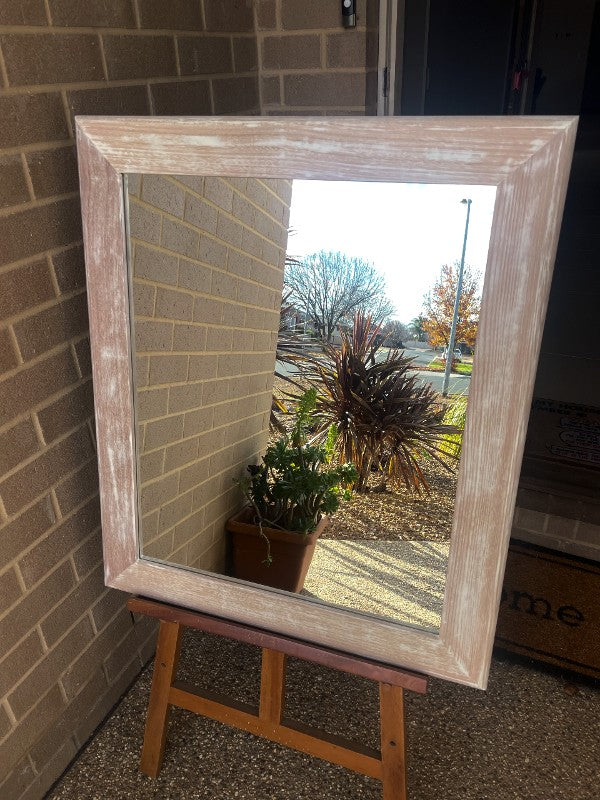
<path fill-rule="evenodd" d="M 336 436 L 308 440 L 316 390 L 300 397 L 293 427 L 250 464 L 239 486 L 248 504 L 227 522 L 236 578 L 301 591 L 317 539 L 357 478 L 352 464 L 332 464 Z"/>

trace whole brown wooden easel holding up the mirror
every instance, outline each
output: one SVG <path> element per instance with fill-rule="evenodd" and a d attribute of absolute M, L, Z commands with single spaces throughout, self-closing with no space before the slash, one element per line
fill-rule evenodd
<path fill-rule="evenodd" d="M 378 778 L 383 783 L 383 800 L 406 800 L 403 690 L 424 693 L 427 679 L 423 675 L 154 600 L 133 597 L 128 607 L 131 611 L 160 620 L 140 765 L 146 775 L 155 778 L 160 771 L 169 709 L 178 706 Z M 258 708 L 176 680 L 182 627 L 196 628 L 262 648 Z M 380 751 L 283 717 L 288 655 L 379 682 Z"/>

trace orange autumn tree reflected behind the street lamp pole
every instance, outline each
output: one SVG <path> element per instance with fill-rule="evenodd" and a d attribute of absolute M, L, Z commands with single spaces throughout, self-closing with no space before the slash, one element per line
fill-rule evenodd
<path fill-rule="evenodd" d="M 459 270 L 458 261 L 452 265 L 444 264 L 439 278 L 423 300 L 422 325 L 433 347 L 448 347 L 450 343 Z M 480 305 L 477 276 L 465 264 L 454 339 L 456 343 L 464 342 L 469 347 L 475 345 Z"/>

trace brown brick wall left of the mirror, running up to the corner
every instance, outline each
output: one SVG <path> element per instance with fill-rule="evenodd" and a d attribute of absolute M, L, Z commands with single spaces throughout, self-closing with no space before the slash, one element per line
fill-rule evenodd
<path fill-rule="evenodd" d="M 73 116 L 255 113 L 253 10 L 204 5 L 0 4 L 3 800 L 40 797 L 152 651 L 103 584 Z"/>

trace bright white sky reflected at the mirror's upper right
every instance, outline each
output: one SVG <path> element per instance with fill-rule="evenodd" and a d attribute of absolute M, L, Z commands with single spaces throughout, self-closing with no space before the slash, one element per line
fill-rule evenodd
<path fill-rule="evenodd" d="M 463 198 L 473 201 L 465 263 L 483 275 L 495 196 L 494 186 L 295 180 L 288 254 L 339 250 L 370 261 L 407 323 L 420 314 L 442 264 L 460 260 Z"/>

